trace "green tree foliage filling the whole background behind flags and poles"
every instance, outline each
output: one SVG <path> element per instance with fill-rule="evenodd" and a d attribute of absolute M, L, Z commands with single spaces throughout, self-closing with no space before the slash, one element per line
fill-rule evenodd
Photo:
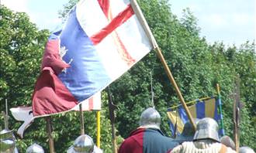
<path fill-rule="evenodd" d="M 77 0 L 70 0 L 60 12 L 61 18 L 74 6 Z M 167 0 L 140 0 L 140 8 L 154 33 L 157 43 L 185 101 L 216 95 L 216 83 L 220 84 L 223 101 L 224 128 L 233 136 L 233 94 L 236 76 L 240 77 L 240 98 L 244 103 L 240 124 L 240 143 L 255 148 L 256 143 L 256 53 L 254 42 L 242 46 L 225 46 L 222 42 L 209 45 L 200 37 L 197 19 L 184 10 L 182 19 L 171 12 Z M 48 31 L 38 31 L 24 13 L 1 9 L 1 77 L 0 100 L 8 98 L 10 107 L 31 104 L 30 97 L 36 76 L 40 73 L 40 60 Z M 171 136 L 166 111 L 179 104 L 156 53 L 151 51 L 131 70 L 110 85 L 116 111 L 118 135 L 128 137 L 137 128 L 140 113 L 152 106 L 150 72 L 154 90 L 154 105 L 161 113 L 161 129 Z M 102 148 L 112 151 L 111 126 L 108 120 L 106 92 L 102 96 Z M 4 103 L 1 102 L 1 110 Z M 75 112 L 55 115 L 53 118 L 54 141 L 57 152 L 64 152 L 79 134 L 78 114 Z M 1 116 L 2 119 L 2 116 Z M 23 152 L 33 141 L 39 141 L 48 148 L 43 118 L 36 119 L 27 130 L 24 139 L 18 139 L 18 148 Z M 11 118 L 11 128 L 20 123 Z M 3 127 L 3 122 L 1 122 Z M 85 113 L 85 133 L 95 138 L 95 113 Z M 118 138 L 119 143 L 122 138 Z"/>

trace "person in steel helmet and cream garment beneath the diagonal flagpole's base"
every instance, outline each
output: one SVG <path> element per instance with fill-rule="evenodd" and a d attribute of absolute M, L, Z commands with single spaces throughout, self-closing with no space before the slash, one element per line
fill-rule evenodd
<path fill-rule="evenodd" d="M 212 118 L 202 118 L 196 124 L 193 141 L 183 142 L 175 147 L 171 153 L 195 152 L 195 153 L 232 153 L 236 152 L 220 143 L 218 124 Z"/>

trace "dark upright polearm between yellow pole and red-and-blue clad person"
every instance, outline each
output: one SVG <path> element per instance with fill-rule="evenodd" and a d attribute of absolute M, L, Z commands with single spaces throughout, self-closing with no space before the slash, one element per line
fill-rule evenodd
<path fill-rule="evenodd" d="M 108 87 L 108 97 L 109 97 L 109 118 L 111 122 L 111 129 L 112 129 L 112 152 L 117 153 L 117 145 L 116 145 L 116 129 L 115 129 L 115 109 L 116 105 L 112 104 L 112 97 L 110 93 L 110 89 Z"/>

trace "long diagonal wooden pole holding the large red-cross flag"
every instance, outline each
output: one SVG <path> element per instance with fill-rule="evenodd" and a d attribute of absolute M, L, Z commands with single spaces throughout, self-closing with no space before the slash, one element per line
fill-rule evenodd
<path fill-rule="evenodd" d="M 156 51 L 157 51 L 157 56 L 158 56 L 158 58 L 161 59 L 161 63 L 162 63 L 163 66 L 164 66 L 164 70 L 165 70 L 165 72 L 166 72 L 167 75 L 168 75 L 168 79 L 171 81 L 172 85 L 175 87 L 175 91 L 176 91 L 176 93 L 178 94 L 178 98 L 179 98 L 179 100 L 181 101 L 182 106 L 184 107 L 185 112 L 186 112 L 186 114 L 187 114 L 188 117 L 189 117 L 189 121 L 190 121 L 190 123 L 192 124 L 192 128 L 193 128 L 194 131 L 195 131 L 195 123 L 194 123 L 194 121 L 193 121 L 192 115 L 191 115 L 190 112 L 189 112 L 189 108 L 188 108 L 187 105 L 185 104 L 185 100 L 184 100 L 184 98 L 182 97 L 182 93 L 181 93 L 181 91 L 179 90 L 179 88 L 178 88 L 178 86 L 177 86 L 177 83 L 175 82 L 175 79 L 174 79 L 174 77 L 173 77 L 172 74 L 171 74 L 171 70 L 169 69 L 169 67 L 168 67 L 168 65 L 167 65 L 167 63 L 166 63 L 166 61 L 165 61 L 165 59 L 164 59 L 164 56 L 163 56 L 162 53 L 161 53 L 161 49 L 160 49 L 160 48 L 158 47 L 158 45 L 157 45 L 157 41 L 154 39 L 154 36 L 153 36 L 152 32 L 150 31 L 149 26 L 147 25 L 147 21 L 146 21 L 146 19 L 144 18 L 144 15 L 143 15 L 143 13 L 142 13 L 141 10 L 140 10 L 140 7 L 139 7 L 139 5 L 137 4 L 137 1 L 136 1 L 136 0 L 131 0 L 131 1 L 130 1 L 130 4 L 132 5 L 133 11 L 134 11 L 134 13 L 137 15 L 137 18 L 139 19 L 141 25 L 144 27 L 144 30 L 145 30 L 145 32 L 146 32 L 146 34 L 147 34 L 147 37 L 150 39 L 150 42 L 152 43 L 154 49 L 156 49 Z"/>

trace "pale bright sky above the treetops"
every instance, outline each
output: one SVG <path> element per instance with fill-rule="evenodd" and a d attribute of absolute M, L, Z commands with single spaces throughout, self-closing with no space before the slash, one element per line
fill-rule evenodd
<path fill-rule="evenodd" d="M 54 30 L 61 19 L 58 11 L 68 0 L 1 0 L 1 4 L 16 12 L 26 12 L 39 29 Z M 254 41 L 256 37 L 255 0 L 169 0 L 171 12 L 182 17 L 190 8 L 198 19 L 201 36 L 207 42 L 224 42 L 227 46 Z"/>

